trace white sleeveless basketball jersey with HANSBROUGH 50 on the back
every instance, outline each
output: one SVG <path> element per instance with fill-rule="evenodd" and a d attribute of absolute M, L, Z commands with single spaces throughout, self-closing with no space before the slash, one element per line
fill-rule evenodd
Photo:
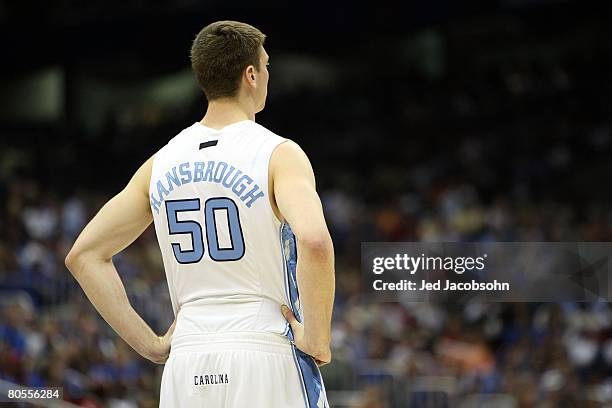
<path fill-rule="evenodd" d="M 270 156 L 285 140 L 250 120 L 221 130 L 196 122 L 155 155 L 149 192 L 175 313 L 181 306 L 175 335 L 288 334 L 280 304 L 297 297 L 282 248 L 291 232 L 268 194 Z"/>

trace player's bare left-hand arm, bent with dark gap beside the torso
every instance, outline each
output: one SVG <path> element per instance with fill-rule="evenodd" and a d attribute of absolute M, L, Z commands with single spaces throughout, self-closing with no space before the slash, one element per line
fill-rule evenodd
<path fill-rule="evenodd" d="M 153 158 L 83 229 L 66 257 L 66 266 L 106 322 L 136 352 L 163 363 L 170 351 L 175 322 L 157 336 L 132 308 L 112 257 L 130 245 L 151 224 L 148 185 Z"/>

